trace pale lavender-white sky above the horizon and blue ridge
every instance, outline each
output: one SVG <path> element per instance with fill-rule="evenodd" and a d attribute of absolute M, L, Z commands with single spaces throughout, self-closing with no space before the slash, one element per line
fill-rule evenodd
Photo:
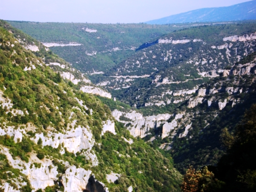
<path fill-rule="evenodd" d="M 249 0 L 0 0 L 0 19 L 37 22 L 140 23 L 194 9 Z"/>

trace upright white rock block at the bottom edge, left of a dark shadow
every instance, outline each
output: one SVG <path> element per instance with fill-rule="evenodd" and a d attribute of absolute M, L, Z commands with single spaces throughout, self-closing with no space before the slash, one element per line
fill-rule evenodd
<path fill-rule="evenodd" d="M 82 192 L 90 178 L 92 171 L 71 166 L 62 177 L 65 192 Z"/>

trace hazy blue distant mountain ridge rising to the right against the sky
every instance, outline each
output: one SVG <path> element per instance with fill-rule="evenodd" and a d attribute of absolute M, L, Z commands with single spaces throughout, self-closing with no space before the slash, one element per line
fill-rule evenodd
<path fill-rule="evenodd" d="M 193 11 L 171 15 L 156 20 L 150 20 L 148 24 L 168 23 L 194 23 L 194 22 L 218 22 L 256 19 L 256 0 L 239 3 L 228 7 L 203 8 Z"/>

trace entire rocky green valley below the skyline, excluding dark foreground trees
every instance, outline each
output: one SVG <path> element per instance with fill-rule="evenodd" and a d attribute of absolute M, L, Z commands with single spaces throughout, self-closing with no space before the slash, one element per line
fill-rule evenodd
<path fill-rule="evenodd" d="M 189 166 L 216 172 L 256 103 L 255 21 L 55 24 L 0 20 L 0 189 L 181 191 Z"/>

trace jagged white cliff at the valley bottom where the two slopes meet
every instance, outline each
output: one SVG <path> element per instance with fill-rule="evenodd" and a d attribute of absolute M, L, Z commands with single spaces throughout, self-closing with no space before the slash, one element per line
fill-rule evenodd
<path fill-rule="evenodd" d="M 125 116 L 131 121 L 121 121 L 120 116 Z M 147 135 L 147 131 L 149 129 L 154 128 L 154 126 L 160 126 L 162 122 L 166 122 L 172 115 L 171 114 L 159 114 L 157 116 L 146 116 L 143 117 L 143 114 L 138 113 L 137 111 L 130 111 L 129 113 L 121 112 L 118 110 L 114 110 L 112 112 L 112 116 L 119 122 L 131 125 L 128 127 L 131 135 L 134 137 L 145 137 Z"/>

